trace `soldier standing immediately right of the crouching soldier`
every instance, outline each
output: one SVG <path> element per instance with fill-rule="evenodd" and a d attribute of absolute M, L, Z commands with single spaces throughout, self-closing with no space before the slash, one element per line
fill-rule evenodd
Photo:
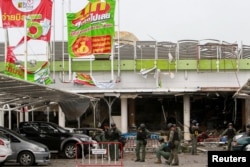
<path fill-rule="evenodd" d="M 178 145 L 180 142 L 179 134 L 174 124 L 169 123 L 168 127 L 170 128 L 169 139 L 168 139 L 168 144 L 170 145 L 170 156 L 166 163 L 168 165 L 178 166 L 179 165 Z"/>

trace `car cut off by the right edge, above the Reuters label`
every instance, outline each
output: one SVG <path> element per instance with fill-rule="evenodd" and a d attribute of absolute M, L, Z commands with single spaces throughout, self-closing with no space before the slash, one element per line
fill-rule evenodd
<path fill-rule="evenodd" d="M 234 136 L 232 151 L 250 151 L 250 136 L 247 133 L 240 133 Z"/>

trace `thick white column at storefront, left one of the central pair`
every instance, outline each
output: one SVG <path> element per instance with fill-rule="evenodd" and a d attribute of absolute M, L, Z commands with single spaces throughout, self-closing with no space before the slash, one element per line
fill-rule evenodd
<path fill-rule="evenodd" d="M 121 98 L 121 131 L 128 132 L 128 99 Z"/>

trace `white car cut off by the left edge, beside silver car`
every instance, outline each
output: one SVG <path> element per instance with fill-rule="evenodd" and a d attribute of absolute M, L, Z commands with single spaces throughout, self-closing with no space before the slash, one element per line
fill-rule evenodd
<path fill-rule="evenodd" d="M 12 154 L 10 141 L 0 132 L 0 166 Z"/>

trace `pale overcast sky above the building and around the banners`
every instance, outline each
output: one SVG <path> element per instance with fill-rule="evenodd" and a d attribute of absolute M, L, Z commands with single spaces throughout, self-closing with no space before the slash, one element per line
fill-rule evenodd
<path fill-rule="evenodd" d="M 88 1 L 54 1 L 54 38 L 67 40 L 66 28 L 62 31 L 66 13 L 81 10 Z M 249 9 L 249 0 L 117 0 L 116 30 L 131 32 L 139 40 L 216 39 L 250 45 Z M 20 36 L 23 33 L 20 29 L 17 32 Z M 20 39 L 17 34 L 10 33 L 12 43 Z"/>

